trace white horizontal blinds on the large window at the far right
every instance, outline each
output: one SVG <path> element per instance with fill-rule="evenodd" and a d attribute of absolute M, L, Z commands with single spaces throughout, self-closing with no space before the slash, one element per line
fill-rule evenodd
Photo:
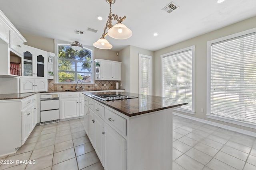
<path fill-rule="evenodd" d="M 256 123 L 256 33 L 211 45 L 211 114 Z"/>

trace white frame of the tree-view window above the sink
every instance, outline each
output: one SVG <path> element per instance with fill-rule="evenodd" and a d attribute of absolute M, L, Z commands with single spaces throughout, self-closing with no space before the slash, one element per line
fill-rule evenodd
<path fill-rule="evenodd" d="M 56 57 L 54 59 L 54 74 L 56 76 L 54 76 L 54 84 L 76 84 L 76 82 L 58 82 L 58 46 L 59 45 L 69 45 L 70 46 L 70 43 L 67 43 L 67 42 L 59 42 L 59 40 L 54 40 L 54 43 L 55 43 L 55 51 L 56 51 Z M 94 75 L 94 47 L 90 47 L 90 46 L 86 46 L 86 45 L 83 45 L 83 48 L 84 49 L 88 49 L 90 51 L 92 51 L 92 73 L 91 73 L 91 82 L 90 83 L 86 83 L 86 82 L 82 82 L 82 84 L 94 84 L 94 81 L 95 81 L 95 75 Z M 72 60 L 70 60 L 72 61 Z M 76 74 L 77 73 L 81 73 L 80 71 L 75 71 L 75 77 L 76 77 Z"/>

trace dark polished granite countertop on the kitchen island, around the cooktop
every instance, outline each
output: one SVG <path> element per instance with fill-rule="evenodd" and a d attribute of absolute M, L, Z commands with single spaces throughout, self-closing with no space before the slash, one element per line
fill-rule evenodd
<path fill-rule="evenodd" d="M 95 98 L 94 96 L 91 96 L 92 94 L 112 94 L 112 93 L 113 92 L 94 92 L 94 93 L 84 93 L 84 95 L 90 98 L 93 98 L 98 102 L 108 107 L 111 107 L 112 109 L 115 109 L 116 111 L 119 111 L 129 117 L 188 104 L 186 102 L 182 102 L 179 99 L 164 98 L 160 96 L 140 95 L 140 94 L 128 93 L 128 92 L 116 92 L 116 93 L 124 94 L 128 96 L 135 96 L 138 98 L 104 101 L 104 100 Z"/>

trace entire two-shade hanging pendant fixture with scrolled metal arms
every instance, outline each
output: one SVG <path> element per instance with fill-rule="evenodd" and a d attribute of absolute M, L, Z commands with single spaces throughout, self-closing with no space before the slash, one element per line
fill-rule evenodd
<path fill-rule="evenodd" d="M 126 19 L 126 16 L 123 18 L 118 17 L 118 15 L 112 14 L 111 12 L 111 4 L 114 4 L 116 0 L 106 0 L 108 4 L 110 4 L 110 12 L 108 16 L 108 21 L 106 23 L 106 27 L 104 28 L 104 33 L 102 34 L 102 37 L 98 39 L 95 43 L 93 43 L 93 46 L 99 49 L 112 49 L 112 45 L 105 39 L 107 35 L 114 39 L 127 39 L 132 36 L 132 31 L 126 27 L 124 24 L 122 24 L 122 21 Z M 112 25 L 112 20 L 117 21 L 116 25 Z M 108 31 L 106 32 L 106 30 Z"/>

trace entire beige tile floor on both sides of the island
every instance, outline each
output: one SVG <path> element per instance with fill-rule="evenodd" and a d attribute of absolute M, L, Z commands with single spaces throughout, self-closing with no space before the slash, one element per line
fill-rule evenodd
<path fill-rule="evenodd" d="M 0 170 L 103 170 L 83 128 L 83 119 L 36 126 Z M 256 138 L 173 116 L 173 170 L 256 170 Z"/>

